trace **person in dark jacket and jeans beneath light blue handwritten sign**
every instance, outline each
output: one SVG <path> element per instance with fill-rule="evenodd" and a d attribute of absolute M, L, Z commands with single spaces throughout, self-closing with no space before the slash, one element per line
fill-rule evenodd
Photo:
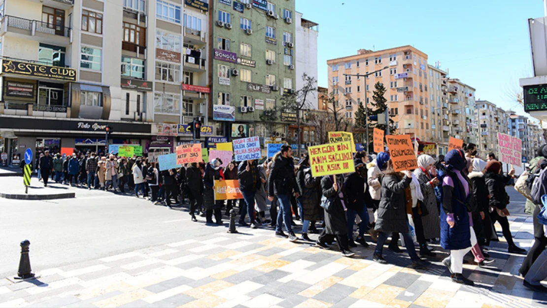
<path fill-rule="evenodd" d="M 242 161 L 237 170 L 237 179 L 239 180 L 241 194 L 247 205 L 247 208 L 241 208 L 239 224 L 243 226 L 247 225 L 245 222 L 245 215 L 249 213 L 251 226 L 253 229 L 257 229 L 260 222 L 254 217 L 254 197 L 262 184 L 258 173 L 257 163 L 254 160 Z"/>

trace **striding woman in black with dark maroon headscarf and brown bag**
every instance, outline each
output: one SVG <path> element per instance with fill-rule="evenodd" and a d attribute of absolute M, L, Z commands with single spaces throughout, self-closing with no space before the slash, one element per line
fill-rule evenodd
<path fill-rule="evenodd" d="M 509 210 L 507 205 L 509 204 L 509 195 L 505 191 L 505 181 L 501 176 L 502 164 L 497 160 L 488 161 L 486 164 L 485 182 L 488 188 L 488 194 L 490 194 L 490 201 L 488 205 L 491 208 L 492 224 L 498 222 L 502 226 L 503 237 L 509 244 L 509 253 L 526 253 L 525 249 L 522 249 L 515 245 L 513 242 L 513 235 L 509 229 Z"/>

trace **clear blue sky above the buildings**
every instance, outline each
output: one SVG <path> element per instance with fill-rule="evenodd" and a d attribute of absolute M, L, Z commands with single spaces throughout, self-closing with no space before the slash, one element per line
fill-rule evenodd
<path fill-rule="evenodd" d="M 525 114 L 508 93 L 532 75 L 527 20 L 544 15 L 542 0 L 296 0 L 296 10 L 319 24 L 319 86 L 328 59 L 413 45 L 477 100 Z"/>

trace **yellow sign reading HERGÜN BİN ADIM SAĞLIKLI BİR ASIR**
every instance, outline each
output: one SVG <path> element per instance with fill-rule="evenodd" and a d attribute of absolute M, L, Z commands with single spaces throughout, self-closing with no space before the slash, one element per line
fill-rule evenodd
<path fill-rule="evenodd" d="M 308 147 L 312 175 L 322 177 L 355 172 L 352 144 L 339 142 Z"/>

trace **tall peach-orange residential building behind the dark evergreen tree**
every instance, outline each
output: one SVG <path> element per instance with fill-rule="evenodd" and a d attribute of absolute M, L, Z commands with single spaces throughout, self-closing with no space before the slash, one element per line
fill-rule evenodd
<path fill-rule="evenodd" d="M 327 61 L 329 92 L 339 104 L 346 106 L 346 118 L 353 120 L 360 102 L 370 108 L 377 82 L 386 88 L 385 98 L 398 133 L 409 134 L 421 140 L 429 137 L 429 83 L 427 55 L 403 46 L 372 51 L 360 49 L 357 55 Z M 376 72 L 379 71 L 379 72 Z M 376 72 L 368 78 L 346 76 Z M 366 85 L 365 85 L 366 83 Z"/>

